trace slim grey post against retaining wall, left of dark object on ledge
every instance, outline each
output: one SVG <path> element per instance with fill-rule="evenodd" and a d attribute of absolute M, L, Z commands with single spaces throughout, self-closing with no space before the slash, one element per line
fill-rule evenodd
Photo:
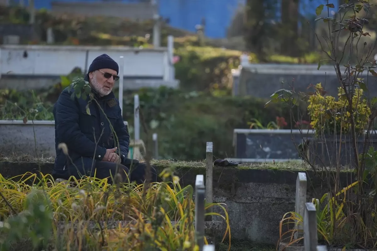
<path fill-rule="evenodd" d="M 207 142 L 207 147 L 205 149 L 205 161 L 206 161 L 206 168 L 205 168 L 205 202 L 212 203 L 213 202 L 213 143 Z M 212 207 L 208 208 L 207 213 L 212 212 Z M 211 221 L 212 216 L 208 215 L 205 218 L 206 221 Z"/>

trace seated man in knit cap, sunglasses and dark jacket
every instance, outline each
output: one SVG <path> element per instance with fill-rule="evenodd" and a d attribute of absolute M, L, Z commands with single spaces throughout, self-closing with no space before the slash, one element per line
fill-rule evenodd
<path fill-rule="evenodd" d="M 118 99 L 112 92 L 114 82 L 119 79 L 118 70 L 118 64 L 106 54 L 98 56 L 90 64 L 84 79 L 89 82 L 97 102 L 89 103 L 89 113 L 89 96 L 86 100 L 74 96 L 72 100 L 74 89 L 70 86 L 60 94 L 53 111 L 56 158 L 52 175 L 55 179 L 68 179 L 70 176 L 80 179 L 83 175 L 103 179 L 119 173 L 127 182 L 126 172 L 130 181 L 141 184 L 146 180 L 146 165 L 127 158 L 130 135 L 124 125 Z M 67 155 L 63 152 L 65 149 L 58 147 L 60 143 L 66 144 Z M 151 182 L 156 181 L 153 167 L 149 176 Z M 109 182 L 112 182 L 110 178 Z"/>

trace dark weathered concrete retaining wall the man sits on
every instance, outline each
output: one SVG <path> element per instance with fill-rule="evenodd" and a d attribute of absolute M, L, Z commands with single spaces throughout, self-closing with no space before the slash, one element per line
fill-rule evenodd
<path fill-rule="evenodd" d="M 171 164 L 177 164 L 171 162 Z M 198 164 L 200 165 L 200 164 Z M 167 161 L 156 163 L 157 173 L 167 167 Z M 40 169 L 41 168 L 41 169 Z M 25 172 L 51 173 L 54 164 L 11 163 L 0 161 L 0 173 L 5 177 L 14 177 Z M 195 187 L 197 174 L 205 175 L 205 167 L 184 166 L 178 164 L 177 175 L 182 186 Z M 279 222 L 282 216 L 294 211 L 296 178 L 299 171 L 279 169 L 251 169 L 245 167 L 215 167 L 213 170 L 213 201 L 224 202 L 229 214 L 231 237 L 251 240 L 257 243 L 276 245 L 279 239 Z M 308 196 L 322 197 L 320 178 L 308 171 Z M 341 186 L 351 173 L 341 172 Z M 205 179 L 205 178 L 204 178 Z M 315 188 L 315 189 L 314 189 Z M 220 212 L 221 210 L 216 209 Z"/>

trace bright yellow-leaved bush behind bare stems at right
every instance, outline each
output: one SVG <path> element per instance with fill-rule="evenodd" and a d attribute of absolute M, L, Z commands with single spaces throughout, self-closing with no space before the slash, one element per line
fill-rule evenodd
<path fill-rule="evenodd" d="M 311 117 L 310 125 L 316 134 L 348 134 L 351 131 L 351 114 L 347 109 L 344 90 L 339 87 L 339 100 L 332 96 L 325 96 L 322 85 L 315 86 L 316 91 L 308 98 L 308 111 Z M 352 113 L 355 122 L 356 134 L 360 135 L 369 122 L 371 109 L 363 97 L 363 90 L 355 87 L 352 96 Z"/>

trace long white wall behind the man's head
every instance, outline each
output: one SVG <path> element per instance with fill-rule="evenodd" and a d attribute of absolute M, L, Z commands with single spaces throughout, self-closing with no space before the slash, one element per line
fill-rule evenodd
<path fill-rule="evenodd" d="M 128 86 L 135 87 L 140 82 L 178 87 L 178 81 L 172 74 L 174 66 L 170 60 L 171 53 L 167 48 L 3 45 L 0 50 L 0 88 L 48 87 L 75 67 L 87 71 L 93 59 L 103 53 L 118 64 L 120 56 L 124 56 L 125 89 Z"/>

